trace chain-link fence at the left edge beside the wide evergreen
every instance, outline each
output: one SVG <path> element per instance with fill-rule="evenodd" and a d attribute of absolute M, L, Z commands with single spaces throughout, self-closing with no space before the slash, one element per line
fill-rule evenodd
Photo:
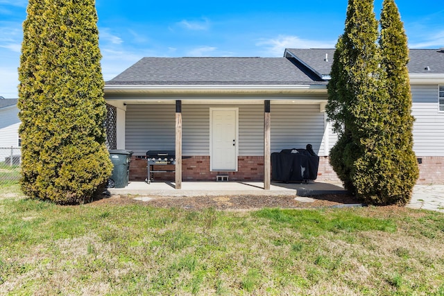
<path fill-rule="evenodd" d="M 21 157 L 20 148 L 0 147 L 0 187 L 19 182 Z"/>

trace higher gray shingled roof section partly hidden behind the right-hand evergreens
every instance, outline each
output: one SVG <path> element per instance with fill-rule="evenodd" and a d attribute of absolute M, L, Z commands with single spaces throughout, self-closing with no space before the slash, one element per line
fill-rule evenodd
<path fill-rule="evenodd" d="M 321 76 L 330 75 L 334 49 L 287 49 L 287 52 L 302 60 Z M 325 54 L 328 55 L 328 61 L 325 61 Z M 410 62 L 407 67 L 411 74 L 444 73 L 444 51 L 443 49 L 410 49 Z M 427 67 L 429 71 L 426 70 Z"/>

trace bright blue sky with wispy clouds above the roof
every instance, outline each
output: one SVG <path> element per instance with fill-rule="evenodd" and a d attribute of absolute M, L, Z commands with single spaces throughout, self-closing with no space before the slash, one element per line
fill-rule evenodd
<path fill-rule="evenodd" d="M 0 96 L 17 97 L 24 0 L 0 0 Z M 444 47 L 443 0 L 398 0 L 411 48 Z M 282 57 L 333 48 L 347 0 L 96 0 L 103 78 L 145 56 Z M 379 19 L 382 0 L 375 0 Z"/>

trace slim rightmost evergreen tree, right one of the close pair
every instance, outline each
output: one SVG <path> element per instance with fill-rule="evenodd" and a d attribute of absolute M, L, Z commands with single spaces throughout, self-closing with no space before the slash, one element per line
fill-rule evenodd
<path fill-rule="evenodd" d="M 381 67 L 386 73 L 388 90 L 388 121 L 386 123 L 385 194 L 378 203 L 406 204 L 418 179 L 419 170 L 413 152 L 413 116 L 409 82 L 409 48 L 398 7 L 393 0 L 384 0 L 380 18 Z"/>

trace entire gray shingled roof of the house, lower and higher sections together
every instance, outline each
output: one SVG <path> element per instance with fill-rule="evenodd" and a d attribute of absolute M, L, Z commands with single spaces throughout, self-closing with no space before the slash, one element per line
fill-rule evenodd
<path fill-rule="evenodd" d="M 106 85 L 327 83 L 321 78 L 330 76 L 334 49 L 287 49 L 286 53 L 284 58 L 142 58 Z M 444 51 L 411 49 L 408 67 L 409 73 L 444 73 Z"/>

